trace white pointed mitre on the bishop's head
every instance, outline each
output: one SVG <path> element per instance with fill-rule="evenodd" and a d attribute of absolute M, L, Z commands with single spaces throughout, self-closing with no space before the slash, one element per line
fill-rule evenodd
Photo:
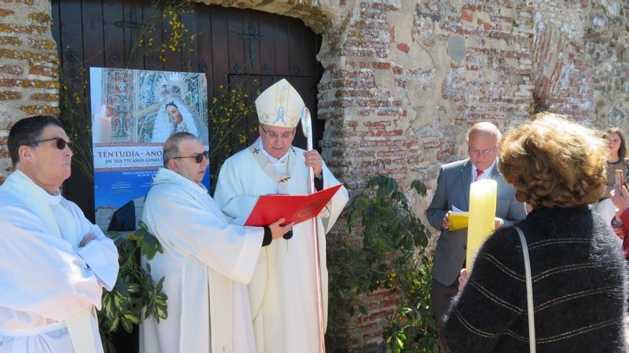
<path fill-rule="evenodd" d="M 265 89 L 256 99 L 259 122 L 279 128 L 297 126 L 304 106 L 302 96 L 290 86 L 286 78 Z"/>

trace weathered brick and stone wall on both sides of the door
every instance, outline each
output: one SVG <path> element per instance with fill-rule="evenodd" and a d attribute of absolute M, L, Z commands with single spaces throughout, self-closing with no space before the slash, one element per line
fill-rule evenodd
<path fill-rule="evenodd" d="M 202 0 L 302 19 L 323 36 L 318 115 L 327 164 L 350 191 L 389 173 L 425 181 L 422 214 L 442 163 L 464 158 L 477 121 L 503 130 L 535 109 L 628 129 L 629 3 L 620 0 Z M 48 1 L 0 0 L 0 178 L 6 129 L 56 109 Z M 345 227 L 335 229 L 344 237 Z M 347 323 L 355 352 L 380 352 L 395 302 Z"/>

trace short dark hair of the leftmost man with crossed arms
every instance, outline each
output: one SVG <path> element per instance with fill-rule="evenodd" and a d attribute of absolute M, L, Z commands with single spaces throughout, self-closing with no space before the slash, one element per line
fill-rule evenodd
<path fill-rule="evenodd" d="M 29 116 L 24 118 L 11 127 L 9 131 L 9 156 L 11 156 L 11 163 L 13 166 L 19 162 L 19 148 L 23 145 L 32 145 L 33 141 L 41 138 L 41 132 L 49 125 L 59 126 L 61 121 L 54 116 Z"/>

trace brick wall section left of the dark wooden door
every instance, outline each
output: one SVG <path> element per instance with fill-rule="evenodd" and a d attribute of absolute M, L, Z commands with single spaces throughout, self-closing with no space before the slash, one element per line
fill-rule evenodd
<path fill-rule="evenodd" d="M 6 149 L 11 124 L 58 113 L 56 44 L 50 1 L 0 1 L 0 183 L 12 170 Z"/>

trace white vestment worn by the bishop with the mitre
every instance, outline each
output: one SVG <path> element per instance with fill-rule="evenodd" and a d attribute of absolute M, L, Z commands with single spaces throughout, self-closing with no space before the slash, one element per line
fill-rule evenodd
<path fill-rule="evenodd" d="M 273 163 L 264 155 L 259 139 L 228 158 L 219 173 L 215 200 L 239 224 L 249 217 L 259 195 L 308 194 L 308 168 L 302 149 L 291 147 L 286 158 Z M 322 165 L 323 188 L 340 184 Z M 324 319 L 327 321 L 327 266 L 325 234 L 335 224 L 348 196 L 340 188 L 319 222 L 321 282 Z M 317 293 L 314 272 L 312 222 L 293 227 L 290 240 L 279 239 L 265 247 L 249 283 L 258 353 L 318 352 Z"/>

